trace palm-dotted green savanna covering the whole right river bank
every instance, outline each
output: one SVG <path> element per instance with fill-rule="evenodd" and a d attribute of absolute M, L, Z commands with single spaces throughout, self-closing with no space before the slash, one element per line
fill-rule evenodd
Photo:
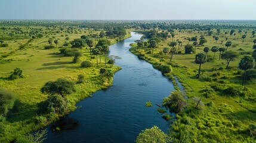
<path fill-rule="evenodd" d="M 137 29 L 144 45 L 135 41 L 130 48 L 175 85 L 158 109 L 171 122 L 168 136 L 174 142 L 255 142 L 255 23 L 197 24 Z"/>

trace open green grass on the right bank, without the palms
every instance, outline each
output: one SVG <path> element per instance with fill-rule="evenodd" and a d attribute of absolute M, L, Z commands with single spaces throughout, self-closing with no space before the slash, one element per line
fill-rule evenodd
<path fill-rule="evenodd" d="M 160 65 L 169 65 L 172 67 L 171 73 L 165 73 L 165 76 L 173 80 L 175 88 L 179 89 L 177 82 L 174 80 L 176 76 L 179 82 L 182 83 L 189 97 L 187 110 L 177 114 L 177 119 L 170 127 L 170 134 L 175 138 L 176 142 L 255 142 L 255 131 L 249 125 L 256 124 L 256 80 L 247 80 L 245 86 L 242 86 L 242 71 L 238 74 L 239 61 L 244 55 L 251 56 L 253 38 L 251 35 L 252 29 L 243 30 L 236 35 L 230 36 L 229 33 L 224 35 L 224 31 L 230 29 L 222 29 L 218 35 L 219 40 L 216 42 L 213 35 L 217 36 L 216 30 L 214 34 L 206 36 L 206 32 L 198 32 L 193 30 L 182 30 L 179 34 L 175 30 L 173 41 L 182 41 L 183 45 L 180 49 L 177 48 L 177 53 L 172 58 L 172 63 L 169 63 L 171 54 L 163 54 L 161 51 L 172 42 L 172 38 L 166 41 L 161 41 L 151 54 L 152 48 L 138 47 L 134 43 L 130 51 L 139 58 L 153 64 L 153 67 Z M 245 42 L 242 43 L 242 35 L 246 33 Z M 212 46 L 224 47 L 227 41 L 232 42 L 232 46 L 228 51 L 236 51 L 239 53 L 239 58 L 230 62 L 230 68 L 226 69 L 227 61 L 218 60 L 220 52 L 216 52 L 215 60 L 208 61 L 202 64 L 202 77 L 196 78 L 198 74 L 199 64 L 195 63 L 195 54 L 184 54 L 184 45 L 188 43 L 185 38 L 197 36 L 198 39 L 203 35 L 208 41 L 203 46 L 196 47 L 196 53 L 203 52 L 204 47 L 209 47 L 208 57 L 213 57 L 211 52 Z M 227 41 L 226 41 L 226 38 Z M 193 42 L 190 41 L 190 44 Z M 180 52 L 179 52 L 180 51 Z M 178 54 L 180 53 L 180 54 Z M 215 73 L 220 73 L 219 76 L 212 76 Z M 213 80 L 205 80 L 210 77 Z M 242 95 L 226 94 L 224 89 L 234 87 L 237 92 Z M 207 90 L 209 97 L 203 96 L 201 110 L 195 109 L 195 102 L 190 100 L 193 97 L 200 98 Z M 203 91 L 204 90 L 204 91 Z M 212 104 L 212 103 L 213 104 Z M 209 105 L 207 104 L 209 103 Z"/>

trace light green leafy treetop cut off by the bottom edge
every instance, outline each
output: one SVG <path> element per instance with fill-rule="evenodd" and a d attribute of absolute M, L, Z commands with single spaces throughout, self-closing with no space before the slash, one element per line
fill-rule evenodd
<path fill-rule="evenodd" d="M 171 142 L 171 138 L 166 135 L 158 126 L 153 126 L 150 129 L 142 130 L 140 134 L 138 134 L 136 143 L 167 143 Z"/>

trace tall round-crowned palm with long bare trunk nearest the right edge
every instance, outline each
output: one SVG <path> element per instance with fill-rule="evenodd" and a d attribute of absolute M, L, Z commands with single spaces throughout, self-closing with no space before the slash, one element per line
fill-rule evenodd
<path fill-rule="evenodd" d="M 241 58 L 239 63 L 239 69 L 244 70 L 242 85 L 245 83 L 246 70 L 252 69 L 253 67 L 254 60 L 252 57 L 245 55 L 243 58 Z"/>

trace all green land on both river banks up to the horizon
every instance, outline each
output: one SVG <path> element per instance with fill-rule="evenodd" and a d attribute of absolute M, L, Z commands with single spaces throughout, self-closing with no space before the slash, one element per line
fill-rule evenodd
<path fill-rule="evenodd" d="M 174 85 L 141 103 L 168 132 L 134 142 L 256 141 L 255 20 L 0 20 L 0 142 L 44 142 L 45 126 L 112 86 L 122 67 L 110 45 L 131 32 L 143 36 L 129 51 Z"/>

